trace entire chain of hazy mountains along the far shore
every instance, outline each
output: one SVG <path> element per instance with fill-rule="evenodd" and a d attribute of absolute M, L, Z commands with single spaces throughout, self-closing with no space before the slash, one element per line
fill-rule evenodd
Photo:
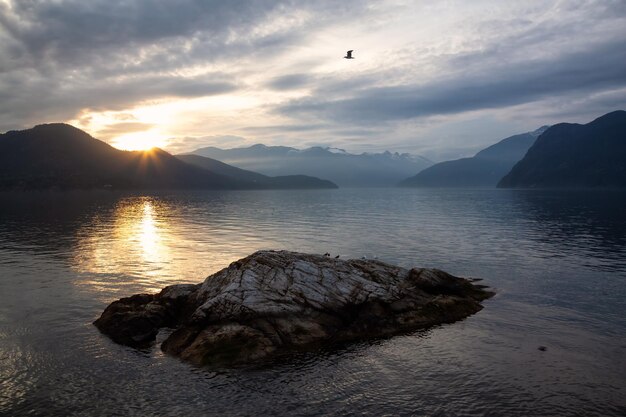
<path fill-rule="evenodd" d="M 503 139 L 471 158 L 429 165 L 409 154 L 355 155 L 321 147 L 209 147 L 176 156 L 158 148 L 122 151 L 63 123 L 0 134 L 0 189 L 337 187 L 312 173 L 345 186 L 388 186 L 409 170 L 419 172 L 400 185 L 626 187 L 626 112 L 608 113 L 585 125 L 544 126 Z M 277 173 L 288 175 L 272 176 Z"/>

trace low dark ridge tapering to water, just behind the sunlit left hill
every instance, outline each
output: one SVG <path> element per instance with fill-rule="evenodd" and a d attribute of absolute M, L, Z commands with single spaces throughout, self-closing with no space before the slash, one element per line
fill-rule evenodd
<path fill-rule="evenodd" d="M 330 181 L 321 180 L 307 175 L 286 175 L 269 177 L 257 172 L 247 171 L 232 165 L 225 164 L 216 159 L 200 155 L 176 155 L 178 159 L 188 164 L 207 169 L 216 174 L 226 175 L 242 181 L 261 185 L 263 188 L 287 189 L 287 188 L 337 188 Z"/>

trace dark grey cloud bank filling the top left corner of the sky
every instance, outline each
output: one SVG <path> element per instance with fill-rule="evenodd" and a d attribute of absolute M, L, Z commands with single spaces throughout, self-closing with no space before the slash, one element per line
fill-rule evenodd
<path fill-rule="evenodd" d="M 18 1 L 0 23 L 35 59 L 84 62 L 143 45 L 211 37 L 250 27 L 280 6 L 274 0 Z"/>

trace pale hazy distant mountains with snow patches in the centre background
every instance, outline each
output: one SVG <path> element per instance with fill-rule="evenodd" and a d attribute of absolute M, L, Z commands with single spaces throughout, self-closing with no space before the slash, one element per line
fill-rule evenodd
<path fill-rule="evenodd" d="M 432 165 L 420 156 L 391 152 L 348 153 L 342 149 L 254 145 L 247 148 L 207 147 L 192 152 L 270 176 L 305 174 L 327 178 L 339 186 L 391 186 Z"/>

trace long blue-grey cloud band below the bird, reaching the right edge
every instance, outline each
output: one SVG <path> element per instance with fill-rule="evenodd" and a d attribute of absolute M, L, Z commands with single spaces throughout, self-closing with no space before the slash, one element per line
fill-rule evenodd
<path fill-rule="evenodd" d="M 622 46 L 622 41 L 614 42 L 559 57 L 500 65 L 495 71 L 484 68 L 482 73 L 425 85 L 362 89 L 348 99 L 313 96 L 294 100 L 277 110 L 292 117 L 377 124 L 615 89 L 626 86 L 626 48 Z M 481 55 L 476 59 L 480 60 Z"/>

